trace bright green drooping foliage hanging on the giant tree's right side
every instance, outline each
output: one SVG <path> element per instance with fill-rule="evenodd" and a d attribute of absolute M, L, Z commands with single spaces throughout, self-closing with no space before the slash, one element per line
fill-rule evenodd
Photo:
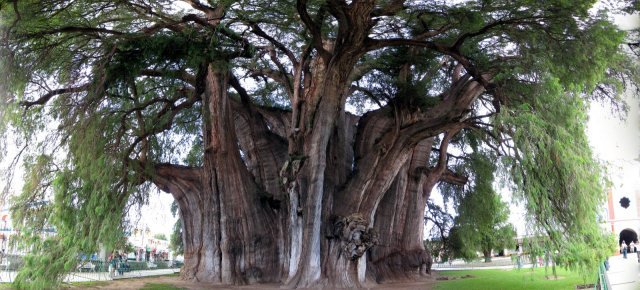
<path fill-rule="evenodd" d="M 587 108 L 579 93 L 553 78 L 536 96 L 498 119 L 510 128 L 517 149 L 503 158 L 505 168 L 553 248 L 575 258 L 562 265 L 594 268 L 611 253 L 611 244 L 597 223 L 606 195 L 602 166 L 592 159 L 585 136 Z"/>

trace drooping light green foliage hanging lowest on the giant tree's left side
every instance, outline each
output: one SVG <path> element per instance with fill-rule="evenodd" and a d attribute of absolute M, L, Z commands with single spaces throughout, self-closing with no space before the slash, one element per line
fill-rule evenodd
<path fill-rule="evenodd" d="M 12 201 L 20 246 L 31 250 L 14 282 L 18 288 L 55 287 L 63 273 L 75 268 L 78 253 L 96 252 L 99 244 L 125 246 L 122 219 L 129 193 L 117 191 L 122 177 L 114 170 L 117 164 L 101 152 L 104 145 L 86 139 L 94 126 L 88 124 L 88 135 L 69 140 L 69 159 L 63 164 L 47 156 L 27 159 L 27 176 L 37 180 L 25 183 Z M 67 169 L 51 170 L 58 166 Z M 51 230 L 54 236 L 47 234 Z"/>

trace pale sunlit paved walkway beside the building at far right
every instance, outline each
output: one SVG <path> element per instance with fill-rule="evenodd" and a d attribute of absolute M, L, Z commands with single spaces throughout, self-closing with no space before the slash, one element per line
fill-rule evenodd
<path fill-rule="evenodd" d="M 640 263 L 635 253 L 609 258 L 609 271 L 607 277 L 612 290 L 638 290 L 640 289 Z"/>

